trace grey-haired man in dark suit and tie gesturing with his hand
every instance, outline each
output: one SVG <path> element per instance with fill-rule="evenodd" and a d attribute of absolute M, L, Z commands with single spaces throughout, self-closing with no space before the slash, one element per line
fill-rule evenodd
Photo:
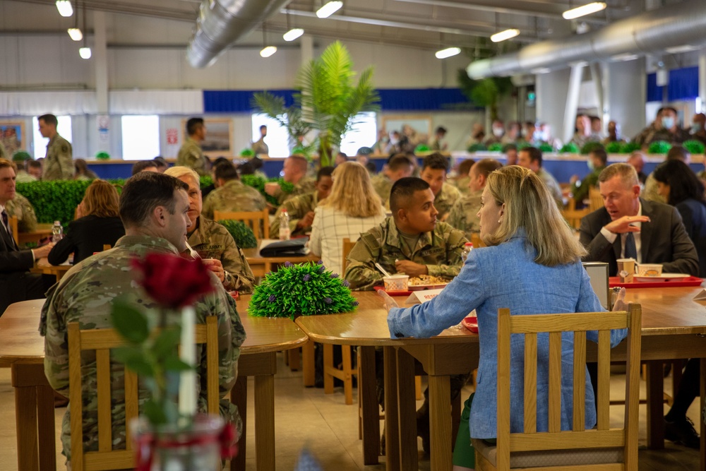
<path fill-rule="evenodd" d="M 581 220 L 580 241 L 588 251 L 584 261 L 609 263 L 612 276 L 618 273 L 618 258 L 662 263 L 665 273 L 698 275 L 698 255 L 676 208 L 640 198 L 633 167 L 609 165 L 598 181 L 604 208 Z"/>

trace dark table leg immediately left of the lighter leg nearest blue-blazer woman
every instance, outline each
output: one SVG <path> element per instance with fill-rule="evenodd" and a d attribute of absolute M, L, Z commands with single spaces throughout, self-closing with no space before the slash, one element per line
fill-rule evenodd
<path fill-rule="evenodd" d="M 414 388 L 414 358 L 397 349 L 397 404 L 400 424 L 400 466 L 403 470 L 419 469 L 417 451 L 417 401 Z"/>

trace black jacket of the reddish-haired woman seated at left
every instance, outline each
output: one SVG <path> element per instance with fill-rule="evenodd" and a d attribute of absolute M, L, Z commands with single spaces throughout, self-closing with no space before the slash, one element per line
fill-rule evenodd
<path fill-rule="evenodd" d="M 61 239 L 49 252 L 47 259 L 52 265 L 61 265 L 73 254 L 73 264 L 103 251 L 104 244 L 115 245 L 125 235 L 125 228 L 119 217 L 81 217 L 68 223 L 66 237 Z"/>

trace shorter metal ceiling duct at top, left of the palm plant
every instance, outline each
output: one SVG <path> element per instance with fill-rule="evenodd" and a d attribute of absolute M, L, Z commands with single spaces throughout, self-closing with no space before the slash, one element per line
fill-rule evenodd
<path fill-rule="evenodd" d="M 186 47 L 189 63 L 198 68 L 213 64 L 243 35 L 280 11 L 289 0 L 203 0 L 196 31 Z"/>

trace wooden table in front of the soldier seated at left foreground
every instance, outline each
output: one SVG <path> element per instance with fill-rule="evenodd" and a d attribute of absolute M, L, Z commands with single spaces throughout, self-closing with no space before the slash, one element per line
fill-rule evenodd
<path fill-rule="evenodd" d="M 232 470 L 246 460 L 247 377 L 255 379 L 255 442 L 258 471 L 275 471 L 275 354 L 307 342 L 306 334 L 288 318 L 247 316 L 249 297 L 237 301 L 247 338 L 241 346 L 238 378 L 231 400 L 243 419 L 239 454 Z M 0 316 L 0 366 L 11 368 L 15 391 L 18 470 L 55 471 L 54 390 L 44 376 L 44 338 L 37 328 L 44 299 L 11 304 Z"/>

